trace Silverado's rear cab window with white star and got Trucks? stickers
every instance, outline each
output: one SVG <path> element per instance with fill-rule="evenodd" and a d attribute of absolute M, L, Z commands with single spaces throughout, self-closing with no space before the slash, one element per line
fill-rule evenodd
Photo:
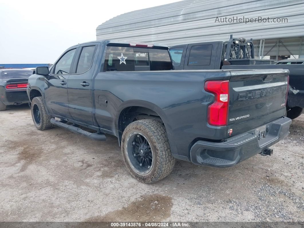
<path fill-rule="evenodd" d="M 103 71 L 172 70 L 168 49 L 107 46 Z"/>

